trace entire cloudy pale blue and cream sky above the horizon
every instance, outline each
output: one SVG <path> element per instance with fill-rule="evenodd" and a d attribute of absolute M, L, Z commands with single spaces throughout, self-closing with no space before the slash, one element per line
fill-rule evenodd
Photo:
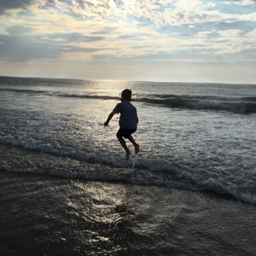
<path fill-rule="evenodd" d="M 256 84 L 256 0 L 0 0 L 0 75 Z"/>

